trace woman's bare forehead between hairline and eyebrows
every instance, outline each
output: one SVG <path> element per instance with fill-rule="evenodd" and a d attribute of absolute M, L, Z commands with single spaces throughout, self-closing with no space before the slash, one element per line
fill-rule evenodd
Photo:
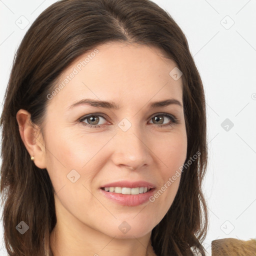
<path fill-rule="evenodd" d="M 176 63 L 153 46 L 109 42 L 77 57 L 60 75 L 52 106 L 82 98 L 149 101 L 182 98 L 182 79 L 169 74 Z M 60 87 L 60 89 L 59 89 Z M 54 89 L 53 88 L 53 89 Z"/>

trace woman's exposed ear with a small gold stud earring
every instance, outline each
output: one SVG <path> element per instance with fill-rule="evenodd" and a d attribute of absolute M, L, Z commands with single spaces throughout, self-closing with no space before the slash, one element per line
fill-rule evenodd
<path fill-rule="evenodd" d="M 38 168 L 46 168 L 45 146 L 39 127 L 31 122 L 30 113 L 24 109 L 19 109 L 16 119 L 19 127 L 20 137 L 30 154 L 34 157 L 34 164 Z"/>

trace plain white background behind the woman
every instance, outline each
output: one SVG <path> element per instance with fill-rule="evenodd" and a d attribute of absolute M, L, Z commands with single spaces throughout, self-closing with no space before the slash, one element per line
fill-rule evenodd
<path fill-rule="evenodd" d="M 53 2 L 0 0 L 0 103 L 17 46 Z M 214 239 L 256 238 L 256 0 L 154 2 L 186 35 L 205 89 L 209 228 L 204 245 L 210 255 Z M 1 238 L 2 233 L 0 225 Z M 0 255 L 6 255 L 3 244 L 0 248 Z"/>

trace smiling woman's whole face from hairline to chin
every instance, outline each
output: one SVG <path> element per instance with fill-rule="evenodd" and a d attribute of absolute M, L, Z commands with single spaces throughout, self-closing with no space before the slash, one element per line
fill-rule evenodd
<path fill-rule="evenodd" d="M 62 73 L 47 95 L 43 134 L 57 221 L 132 238 L 163 218 L 187 149 L 175 66 L 157 48 L 111 42 Z"/>

